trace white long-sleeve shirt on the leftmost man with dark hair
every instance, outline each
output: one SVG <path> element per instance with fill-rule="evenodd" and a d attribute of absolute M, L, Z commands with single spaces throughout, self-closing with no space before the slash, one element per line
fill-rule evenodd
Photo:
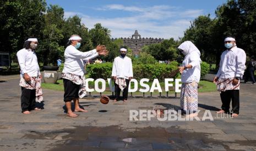
<path fill-rule="evenodd" d="M 37 75 L 41 74 L 34 50 L 23 48 L 18 51 L 17 57 L 21 77 L 23 77 L 24 73 L 27 73 L 30 77 L 37 77 Z"/>

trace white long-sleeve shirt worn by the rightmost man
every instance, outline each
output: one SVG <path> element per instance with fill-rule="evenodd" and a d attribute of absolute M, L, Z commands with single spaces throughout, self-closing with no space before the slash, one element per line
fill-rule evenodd
<path fill-rule="evenodd" d="M 221 54 L 220 68 L 216 74 L 219 78 L 243 77 L 246 69 L 246 53 L 236 46 L 230 50 L 225 50 Z"/>

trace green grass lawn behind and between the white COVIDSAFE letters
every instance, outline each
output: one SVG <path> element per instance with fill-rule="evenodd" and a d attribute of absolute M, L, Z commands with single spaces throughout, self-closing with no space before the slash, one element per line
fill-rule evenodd
<path fill-rule="evenodd" d="M 138 82 L 139 83 L 139 82 Z M 147 83 L 148 85 L 150 85 L 150 88 L 151 88 L 151 85 L 152 83 L 149 82 Z M 43 89 L 51 89 L 51 90 L 57 90 L 57 91 L 64 91 L 64 86 L 63 86 L 63 80 L 58 80 L 56 84 L 48 84 L 48 83 L 42 83 L 42 88 Z M 173 87 L 170 88 L 170 92 L 169 94 L 174 94 L 174 83 L 173 83 Z M 165 83 L 164 82 L 160 82 L 160 86 L 162 88 L 162 90 L 164 91 L 165 90 Z M 131 85 L 132 88 L 134 88 L 134 83 L 132 83 Z M 94 88 L 94 82 L 89 82 L 89 88 Z M 101 83 L 99 83 L 99 88 L 101 88 Z M 142 88 L 139 84 L 138 84 L 138 89 Z M 199 89 L 198 89 L 198 92 L 211 92 L 211 91 L 216 91 L 216 85 L 212 82 L 208 82 L 208 81 L 204 81 L 204 80 L 201 80 L 199 82 Z M 108 83 L 106 82 L 106 91 L 105 91 L 107 94 L 110 94 L 110 89 L 109 89 L 109 85 Z M 104 94 L 105 94 L 104 92 Z M 92 92 L 92 93 L 96 93 L 96 92 Z M 133 92 L 134 95 L 142 95 L 142 92 Z M 159 92 L 155 91 L 152 93 L 153 95 L 157 95 L 159 94 Z M 146 92 L 145 95 L 150 95 L 150 92 Z M 166 92 L 162 92 L 162 95 L 166 95 Z"/>

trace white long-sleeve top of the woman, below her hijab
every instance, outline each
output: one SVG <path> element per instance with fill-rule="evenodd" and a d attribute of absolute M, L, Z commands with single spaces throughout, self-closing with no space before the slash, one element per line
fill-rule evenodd
<path fill-rule="evenodd" d="M 190 83 L 200 81 L 200 55 L 197 51 L 193 51 L 185 56 L 182 66 L 192 65 L 192 68 L 185 69 L 181 74 L 181 82 L 182 83 Z"/>

